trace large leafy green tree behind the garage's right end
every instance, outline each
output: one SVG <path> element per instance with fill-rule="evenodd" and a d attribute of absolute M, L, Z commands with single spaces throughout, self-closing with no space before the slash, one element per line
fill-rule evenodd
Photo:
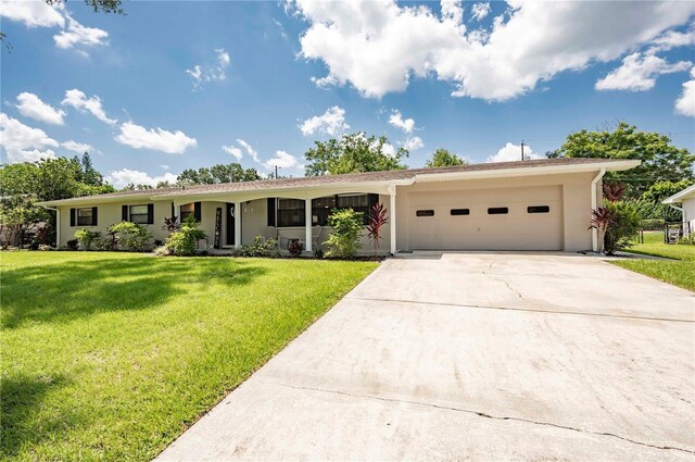
<path fill-rule="evenodd" d="M 567 137 L 548 158 L 636 159 L 642 164 L 624 172 L 606 174 L 607 179 L 626 183 L 627 196 L 637 198 L 656 183 L 694 179 L 695 155 L 671 139 L 655 132 L 641 132 L 626 122 L 609 128 L 589 132 L 582 129 Z"/>

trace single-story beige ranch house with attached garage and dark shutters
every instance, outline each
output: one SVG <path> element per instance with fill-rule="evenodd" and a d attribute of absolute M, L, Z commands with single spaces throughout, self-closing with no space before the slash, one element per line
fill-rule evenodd
<path fill-rule="evenodd" d="M 312 249 L 312 226 L 324 226 L 333 208 L 368 214 L 377 201 L 389 210 L 382 249 L 565 250 L 596 249 L 591 211 L 601 203 L 606 172 L 633 160 L 542 159 L 442 168 L 325 175 L 250 183 L 122 191 L 43 202 L 58 210 L 59 242 L 81 227 L 104 232 L 128 220 L 165 239 L 165 217 L 193 215 L 214 242 L 240 247 L 268 226 L 280 245 L 299 238 Z M 363 238 L 363 249 L 368 241 Z"/>

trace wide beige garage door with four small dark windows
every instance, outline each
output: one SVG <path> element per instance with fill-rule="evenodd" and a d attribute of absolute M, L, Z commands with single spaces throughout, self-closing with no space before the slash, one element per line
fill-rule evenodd
<path fill-rule="evenodd" d="M 561 250 L 559 186 L 410 192 L 414 250 Z"/>

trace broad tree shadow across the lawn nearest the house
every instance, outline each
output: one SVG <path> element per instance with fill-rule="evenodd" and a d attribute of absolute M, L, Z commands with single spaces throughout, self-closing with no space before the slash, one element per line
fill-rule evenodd
<path fill-rule="evenodd" d="M 2 327 L 68 322 L 104 311 L 144 310 L 187 294 L 187 284 L 245 285 L 267 270 L 231 259 L 70 261 L 2 273 Z"/>

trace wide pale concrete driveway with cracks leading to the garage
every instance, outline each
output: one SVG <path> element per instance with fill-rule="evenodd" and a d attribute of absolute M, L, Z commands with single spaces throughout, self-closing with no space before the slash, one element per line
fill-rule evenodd
<path fill-rule="evenodd" d="M 161 460 L 687 460 L 695 295 L 573 254 L 382 264 Z"/>

